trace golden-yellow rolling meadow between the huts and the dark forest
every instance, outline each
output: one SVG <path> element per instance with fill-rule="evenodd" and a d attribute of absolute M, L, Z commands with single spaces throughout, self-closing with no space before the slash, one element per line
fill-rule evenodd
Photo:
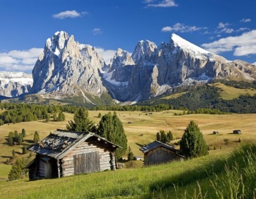
<path fill-rule="evenodd" d="M 98 114 L 107 114 L 109 111 L 89 111 L 90 119 L 98 123 L 100 118 Z M 113 113 L 113 111 L 111 111 Z M 256 141 L 256 114 L 231 114 L 231 115 L 207 115 L 193 114 L 174 116 L 174 112 L 182 113 L 183 111 L 170 110 L 164 112 L 153 112 L 152 115 L 145 115 L 146 112 L 139 111 L 117 111 L 119 119 L 123 122 L 124 130 L 128 139 L 128 146 L 132 148 L 134 155 L 143 155 L 139 148 L 143 144 L 148 144 L 155 140 L 156 132 L 164 130 L 173 132 L 174 138 L 181 138 L 187 124 L 194 120 L 202 131 L 207 144 L 210 146 L 210 153 L 226 153 L 229 150 L 239 146 L 238 139 L 241 142 Z M 22 122 L 0 126 L 0 162 L 4 162 L 11 157 L 14 149 L 17 154 L 22 153 L 22 146 L 9 147 L 6 142 L 9 131 L 22 131 L 25 128 L 27 137 L 25 140 L 32 140 L 35 131 L 39 131 L 40 138 L 48 136 L 56 128 L 65 129 L 67 120 L 73 120 L 73 114 L 65 113 L 66 121 L 64 122 Z M 132 123 L 128 123 L 132 122 Z M 233 135 L 235 129 L 242 130 L 241 135 Z M 218 131 L 218 135 L 213 135 L 213 131 Z M 140 136 L 143 134 L 143 136 Z M 224 146 L 223 138 L 229 139 L 228 146 Z M 25 142 L 25 144 L 30 144 Z M 216 146 L 216 150 L 213 147 Z M 220 147 L 222 149 L 220 149 Z M 28 157 L 29 154 L 21 155 Z"/>

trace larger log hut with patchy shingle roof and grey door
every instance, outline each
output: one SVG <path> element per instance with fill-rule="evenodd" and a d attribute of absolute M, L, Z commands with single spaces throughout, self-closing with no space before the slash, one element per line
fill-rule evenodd
<path fill-rule="evenodd" d="M 117 148 L 121 147 L 95 133 L 57 130 L 29 148 L 36 153 L 27 165 L 29 179 L 115 170 Z"/>

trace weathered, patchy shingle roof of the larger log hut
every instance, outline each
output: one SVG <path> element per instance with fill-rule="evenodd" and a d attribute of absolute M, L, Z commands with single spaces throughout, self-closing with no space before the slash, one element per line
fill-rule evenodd
<path fill-rule="evenodd" d="M 42 139 L 38 144 L 30 147 L 29 150 L 41 155 L 47 155 L 55 159 L 60 159 L 77 145 L 93 136 L 97 137 L 99 141 L 103 140 L 106 144 L 111 144 L 113 147 L 122 148 L 117 144 L 109 142 L 105 138 L 96 135 L 95 133 L 56 130 L 55 132 L 50 133 L 49 136 Z"/>

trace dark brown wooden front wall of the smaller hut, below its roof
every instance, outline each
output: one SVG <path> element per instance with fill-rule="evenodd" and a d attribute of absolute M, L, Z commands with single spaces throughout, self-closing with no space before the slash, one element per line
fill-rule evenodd
<path fill-rule="evenodd" d="M 161 164 L 175 159 L 179 159 L 179 156 L 175 152 L 164 147 L 158 147 L 145 153 L 144 165 Z"/>

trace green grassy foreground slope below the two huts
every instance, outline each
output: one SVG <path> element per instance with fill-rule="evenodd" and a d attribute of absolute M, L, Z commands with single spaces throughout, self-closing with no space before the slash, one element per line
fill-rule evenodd
<path fill-rule="evenodd" d="M 196 190 L 196 195 L 201 192 L 202 197 L 199 195 L 199 198 L 218 198 L 218 191 L 223 198 L 236 198 L 235 194 L 252 198 L 256 180 L 255 152 L 254 144 L 228 155 L 210 154 L 149 168 L 121 169 L 51 180 L 0 181 L 0 197 L 194 198 Z M 225 167 L 225 164 L 228 166 Z M 214 189 L 211 181 L 217 189 Z"/>

